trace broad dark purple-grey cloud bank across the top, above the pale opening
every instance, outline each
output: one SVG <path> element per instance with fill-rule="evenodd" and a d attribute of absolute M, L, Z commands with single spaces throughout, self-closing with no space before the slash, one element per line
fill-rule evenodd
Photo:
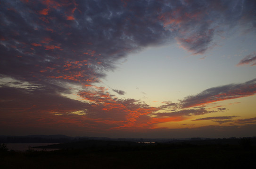
<path fill-rule="evenodd" d="M 254 3 L 3 0 L 0 73 L 40 84 L 56 77 L 91 84 L 114 70 L 116 60 L 148 46 L 177 41 L 191 53 L 203 54 L 221 31 L 216 25 L 228 29 L 255 23 Z M 62 69 L 66 61 L 83 60 L 87 63 Z M 41 71 L 47 67 L 52 70 Z"/>

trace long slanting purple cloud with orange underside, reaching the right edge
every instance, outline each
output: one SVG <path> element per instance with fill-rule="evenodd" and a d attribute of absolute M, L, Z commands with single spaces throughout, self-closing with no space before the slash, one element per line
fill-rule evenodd
<path fill-rule="evenodd" d="M 181 100 L 182 108 L 206 105 L 221 100 L 236 99 L 256 94 L 256 79 L 242 84 L 228 84 L 206 89 L 194 96 Z"/>

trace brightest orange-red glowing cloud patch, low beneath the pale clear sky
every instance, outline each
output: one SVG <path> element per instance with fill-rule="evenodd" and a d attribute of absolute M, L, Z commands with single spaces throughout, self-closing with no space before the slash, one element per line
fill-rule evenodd
<path fill-rule="evenodd" d="M 93 87 L 90 91 L 81 91 L 79 92 L 79 96 L 97 105 L 94 107 L 95 109 L 92 110 L 98 114 L 97 116 L 104 114 L 105 117 L 115 121 L 117 119 L 122 120 L 122 123 L 120 123 L 122 125 L 116 126 L 113 129 L 143 128 L 156 123 L 179 121 L 183 119 L 183 117 L 161 117 L 159 120 L 157 120 L 157 118 L 150 118 L 148 115 L 158 111 L 159 108 L 150 107 L 147 104 L 141 103 L 139 100 L 117 100 L 102 87 Z"/>

